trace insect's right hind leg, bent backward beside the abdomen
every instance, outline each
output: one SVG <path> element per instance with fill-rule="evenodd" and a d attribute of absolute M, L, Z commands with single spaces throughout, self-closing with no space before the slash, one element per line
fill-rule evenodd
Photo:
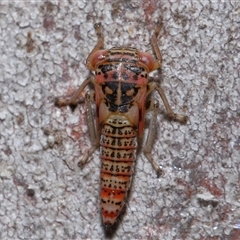
<path fill-rule="evenodd" d="M 150 125 L 149 125 L 150 127 L 149 127 L 148 136 L 147 136 L 147 141 L 143 149 L 144 155 L 146 156 L 148 161 L 152 164 L 154 170 L 157 173 L 157 177 L 159 177 L 162 174 L 162 170 L 157 165 L 157 163 L 153 160 L 151 151 L 152 151 L 153 140 L 156 133 L 156 122 L 157 122 L 156 120 L 157 120 L 158 109 L 159 109 L 159 103 L 155 101 L 153 103 L 153 116 L 151 118 Z"/>

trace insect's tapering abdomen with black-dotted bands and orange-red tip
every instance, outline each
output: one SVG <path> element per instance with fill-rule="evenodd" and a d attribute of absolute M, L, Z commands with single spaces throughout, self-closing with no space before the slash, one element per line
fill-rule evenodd
<path fill-rule="evenodd" d="M 106 227 L 114 224 L 127 197 L 136 159 L 136 131 L 122 115 L 109 117 L 100 139 L 101 211 Z"/>

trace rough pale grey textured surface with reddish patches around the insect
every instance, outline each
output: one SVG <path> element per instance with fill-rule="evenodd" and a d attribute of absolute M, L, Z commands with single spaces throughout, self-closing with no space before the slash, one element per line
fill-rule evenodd
<path fill-rule="evenodd" d="M 153 155 L 165 174 L 138 157 L 114 239 L 240 239 L 240 3 L 231 0 L 1 1 L 1 239 L 104 238 L 98 151 L 77 167 L 90 146 L 84 104 L 72 113 L 53 100 L 88 76 L 95 22 L 106 48 L 152 53 L 160 16 L 162 86 L 189 122 L 169 122 L 161 103 Z"/>

